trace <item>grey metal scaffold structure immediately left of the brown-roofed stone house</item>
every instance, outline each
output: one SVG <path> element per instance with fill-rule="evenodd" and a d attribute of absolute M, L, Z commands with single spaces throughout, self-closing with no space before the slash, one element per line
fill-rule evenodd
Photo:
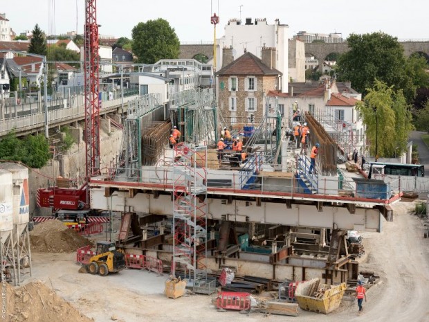
<path fill-rule="evenodd" d="M 212 89 L 189 89 L 173 93 L 170 118 L 186 142 L 200 144 L 217 141 L 216 102 Z"/>

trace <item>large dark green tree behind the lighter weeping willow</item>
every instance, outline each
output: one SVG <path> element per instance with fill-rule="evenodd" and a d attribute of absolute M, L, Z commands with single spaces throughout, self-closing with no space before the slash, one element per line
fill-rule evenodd
<path fill-rule="evenodd" d="M 407 60 L 397 38 L 381 32 L 352 34 L 347 44 L 350 50 L 337 61 L 340 80 L 351 81 L 353 88 L 365 96 L 377 79 L 393 86 L 395 91 L 402 89 L 411 102 L 415 87 L 405 71 Z"/>

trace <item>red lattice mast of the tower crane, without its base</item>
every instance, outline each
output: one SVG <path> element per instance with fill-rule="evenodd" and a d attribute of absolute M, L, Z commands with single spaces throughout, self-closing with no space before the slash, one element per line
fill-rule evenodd
<path fill-rule="evenodd" d="M 85 86 L 85 182 L 100 174 L 100 89 L 97 1 L 85 0 L 84 86 Z M 89 189 L 87 190 L 89 193 Z M 86 199 L 89 201 L 89 198 Z"/>

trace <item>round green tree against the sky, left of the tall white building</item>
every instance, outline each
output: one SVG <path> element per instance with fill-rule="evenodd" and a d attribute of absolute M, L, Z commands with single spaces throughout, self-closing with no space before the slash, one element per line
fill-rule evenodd
<path fill-rule="evenodd" d="M 179 38 L 164 19 L 139 22 L 132 30 L 132 38 L 132 49 L 138 62 L 154 64 L 158 60 L 179 57 Z"/>

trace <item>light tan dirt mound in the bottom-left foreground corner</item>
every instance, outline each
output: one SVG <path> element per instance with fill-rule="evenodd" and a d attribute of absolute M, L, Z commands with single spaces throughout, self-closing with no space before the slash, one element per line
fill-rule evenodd
<path fill-rule="evenodd" d="M 6 285 L 6 321 L 91 322 L 75 307 L 57 296 L 44 283 L 37 281 L 17 289 Z M 9 318 L 9 319 L 7 319 Z"/>

